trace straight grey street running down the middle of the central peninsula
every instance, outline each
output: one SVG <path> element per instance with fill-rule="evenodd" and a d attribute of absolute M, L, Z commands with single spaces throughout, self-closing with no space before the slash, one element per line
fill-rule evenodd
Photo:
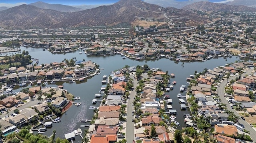
<path fill-rule="evenodd" d="M 138 81 L 134 78 L 134 74 L 130 75 L 130 78 L 133 79 L 133 88 L 135 89 L 138 86 Z M 133 111 L 133 106 L 132 106 L 132 102 L 133 102 L 133 98 L 135 97 L 136 92 L 135 90 L 132 90 L 130 93 L 130 98 L 127 102 L 127 122 L 126 122 L 126 140 L 127 143 L 132 143 L 132 140 L 134 140 L 134 123 L 132 122 L 132 119 L 134 118 L 132 116 L 132 111 Z"/>

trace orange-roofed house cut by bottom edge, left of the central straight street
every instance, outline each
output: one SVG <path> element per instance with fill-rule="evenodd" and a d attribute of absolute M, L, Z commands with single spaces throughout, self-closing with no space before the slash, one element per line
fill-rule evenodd
<path fill-rule="evenodd" d="M 116 134 L 112 135 L 92 135 L 90 143 L 115 143 Z"/>

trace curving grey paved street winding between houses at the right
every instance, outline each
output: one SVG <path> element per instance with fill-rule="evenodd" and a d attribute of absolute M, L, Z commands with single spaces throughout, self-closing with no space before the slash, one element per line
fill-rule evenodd
<path fill-rule="evenodd" d="M 248 74 L 250 74 L 252 71 L 253 71 L 253 69 L 249 69 L 248 71 L 246 71 L 246 73 L 242 74 L 242 76 L 245 76 L 246 74 L 248 75 Z M 228 81 L 230 81 L 230 80 L 232 80 L 232 79 L 236 79 L 236 77 L 239 77 L 239 76 L 232 76 L 232 77 L 230 76 L 230 78 L 228 79 Z M 236 116 L 240 116 L 234 109 L 232 109 L 232 108 L 229 106 L 229 103 L 228 103 L 226 97 L 224 97 L 224 92 L 225 92 L 226 83 L 227 83 L 227 79 L 225 79 L 225 80 L 220 84 L 220 86 L 218 87 L 218 91 L 217 91 L 217 92 L 218 92 L 218 95 L 220 96 L 220 100 L 221 100 L 222 103 L 224 103 L 224 104 L 227 105 L 228 110 L 234 112 L 234 114 L 235 114 Z M 256 142 L 256 131 L 255 131 L 252 127 L 250 127 L 250 125 L 249 125 L 246 121 L 242 120 L 241 118 L 239 119 L 239 122 L 244 125 L 244 127 L 245 127 L 245 129 L 246 129 L 247 131 L 250 131 L 250 136 L 252 137 L 252 140 L 253 140 L 254 143 L 255 143 L 255 142 Z"/>

